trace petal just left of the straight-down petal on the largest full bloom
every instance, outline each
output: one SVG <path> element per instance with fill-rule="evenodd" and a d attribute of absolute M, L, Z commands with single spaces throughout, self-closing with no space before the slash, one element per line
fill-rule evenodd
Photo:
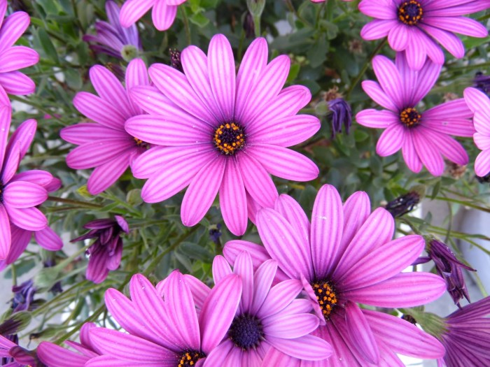
<path fill-rule="evenodd" d="M 216 157 L 195 175 L 183 197 L 181 219 L 185 226 L 194 226 L 213 204 L 225 173 L 226 159 Z"/>

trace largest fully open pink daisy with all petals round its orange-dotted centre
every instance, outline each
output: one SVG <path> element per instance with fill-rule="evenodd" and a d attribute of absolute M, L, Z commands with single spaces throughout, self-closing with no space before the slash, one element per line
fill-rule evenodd
<path fill-rule="evenodd" d="M 309 89 L 282 89 L 290 60 L 267 64 L 267 42 L 250 45 L 235 76 L 233 52 L 225 36 L 211 39 L 208 55 L 195 46 L 182 51 L 184 73 L 153 64 L 155 87 L 131 94 L 150 115 L 126 122 L 129 134 L 153 147 L 134 161 L 133 174 L 149 178 L 141 191 L 148 203 L 164 201 L 188 186 L 181 207 L 186 226 L 207 213 L 220 194 L 228 229 L 239 236 L 260 207 L 272 207 L 277 189 L 269 173 L 309 181 L 318 167 L 287 149 L 320 128 L 318 118 L 296 115 L 310 101 Z M 166 145 L 166 146 L 165 146 Z"/>

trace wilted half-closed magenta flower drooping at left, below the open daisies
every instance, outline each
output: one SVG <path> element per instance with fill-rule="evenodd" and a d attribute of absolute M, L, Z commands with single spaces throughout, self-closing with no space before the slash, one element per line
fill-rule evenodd
<path fill-rule="evenodd" d="M 90 232 L 71 240 L 71 242 L 96 238 L 87 249 L 88 266 L 85 276 L 94 283 L 102 283 L 109 271 L 119 268 L 123 256 L 121 232 L 130 233 L 127 222 L 120 215 L 115 220 L 92 220 L 84 228 Z"/>

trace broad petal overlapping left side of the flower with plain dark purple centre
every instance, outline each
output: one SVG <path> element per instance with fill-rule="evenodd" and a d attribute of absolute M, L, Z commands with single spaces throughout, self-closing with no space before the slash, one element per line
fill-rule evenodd
<path fill-rule="evenodd" d="M 199 317 L 201 349 L 209 354 L 230 329 L 241 297 L 241 279 L 231 274 L 209 293 Z"/>

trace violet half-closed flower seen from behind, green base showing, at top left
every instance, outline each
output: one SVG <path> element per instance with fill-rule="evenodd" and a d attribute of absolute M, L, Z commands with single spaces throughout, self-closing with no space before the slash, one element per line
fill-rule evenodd
<path fill-rule="evenodd" d="M 94 52 L 118 57 L 118 59 L 131 60 L 138 51 L 142 51 L 136 25 L 128 28 L 121 27 L 119 22 L 119 6 L 112 0 L 106 2 L 106 13 L 109 22 L 96 22 L 97 36 L 85 34 L 83 41 L 94 42 L 90 49 Z"/>

